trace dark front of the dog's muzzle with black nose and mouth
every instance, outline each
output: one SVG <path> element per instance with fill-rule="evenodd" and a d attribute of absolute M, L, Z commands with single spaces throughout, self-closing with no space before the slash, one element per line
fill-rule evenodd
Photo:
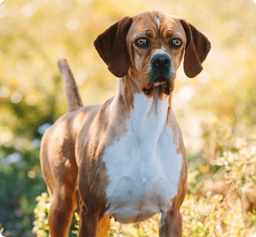
<path fill-rule="evenodd" d="M 151 59 L 150 81 L 154 85 L 168 82 L 171 77 L 171 57 L 166 53 L 157 53 Z"/>

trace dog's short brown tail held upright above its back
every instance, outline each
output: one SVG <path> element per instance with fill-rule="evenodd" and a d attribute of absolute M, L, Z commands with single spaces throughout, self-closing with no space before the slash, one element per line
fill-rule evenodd
<path fill-rule="evenodd" d="M 63 80 L 66 97 L 68 98 L 69 112 L 75 111 L 78 108 L 83 107 L 83 103 L 79 95 L 74 76 L 71 72 L 68 61 L 61 55 L 59 56 L 58 66 Z"/>

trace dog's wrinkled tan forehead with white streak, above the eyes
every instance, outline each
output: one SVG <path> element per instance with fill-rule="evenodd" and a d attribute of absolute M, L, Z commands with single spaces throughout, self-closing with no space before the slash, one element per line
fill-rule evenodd
<path fill-rule="evenodd" d="M 181 18 L 175 15 L 168 15 L 163 12 L 143 12 L 132 17 L 133 23 L 129 29 L 130 35 L 136 33 L 155 31 L 162 32 L 170 30 L 172 32 L 183 32 L 184 28 L 180 22 Z"/>

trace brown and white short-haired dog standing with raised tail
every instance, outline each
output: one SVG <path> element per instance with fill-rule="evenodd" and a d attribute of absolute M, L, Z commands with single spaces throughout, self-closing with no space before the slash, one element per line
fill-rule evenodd
<path fill-rule="evenodd" d="M 161 237 L 181 237 L 187 157 L 172 91 L 183 56 L 193 78 L 211 44 L 184 18 L 144 12 L 110 26 L 94 46 L 119 87 L 103 105 L 84 107 L 67 60 L 58 60 L 69 112 L 41 142 L 49 234 L 68 235 L 78 190 L 79 237 L 105 236 L 111 217 L 126 224 L 156 213 Z"/>

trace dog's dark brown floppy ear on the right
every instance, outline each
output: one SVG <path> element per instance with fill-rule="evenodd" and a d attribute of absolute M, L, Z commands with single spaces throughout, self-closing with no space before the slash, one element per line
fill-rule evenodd
<path fill-rule="evenodd" d="M 181 24 L 187 36 L 184 72 L 188 77 L 193 78 L 202 71 L 202 62 L 211 49 L 211 43 L 205 35 L 186 20 L 181 19 Z"/>

